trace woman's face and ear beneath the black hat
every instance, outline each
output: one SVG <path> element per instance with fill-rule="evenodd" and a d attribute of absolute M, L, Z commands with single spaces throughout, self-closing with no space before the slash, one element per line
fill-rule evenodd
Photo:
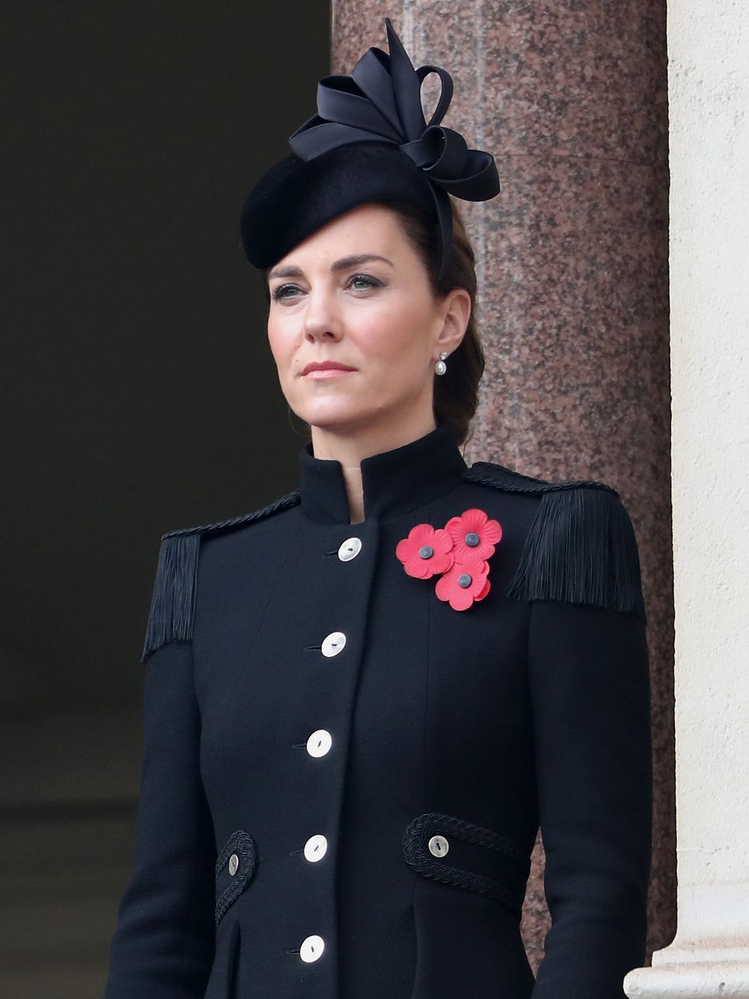
<path fill-rule="evenodd" d="M 434 362 L 462 339 L 470 298 L 463 289 L 432 296 L 393 211 L 361 205 L 339 216 L 268 282 L 268 338 L 302 420 L 335 434 L 433 427 Z M 341 367 L 308 367 L 320 363 Z"/>

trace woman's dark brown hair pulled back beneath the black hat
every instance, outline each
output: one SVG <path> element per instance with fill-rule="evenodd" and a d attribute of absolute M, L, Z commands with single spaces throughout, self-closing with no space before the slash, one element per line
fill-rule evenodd
<path fill-rule="evenodd" d="M 435 220 L 419 205 L 409 201 L 378 200 L 398 217 L 401 229 L 426 269 L 431 292 L 435 298 L 444 298 L 454 288 L 464 288 L 470 297 L 470 317 L 465 335 L 447 359 L 447 371 L 434 378 L 434 422 L 449 424 L 458 444 L 468 437 L 470 421 L 478 406 L 478 385 L 484 369 L 484 356 L 476 317 L 475 255 L 465 226 L 455 202 L 452 209 L 452 252 L 441 281 L 439 274 L 440 240 Z M 266 302 L 270 305 L 268 275 L 263 272 Z"/>

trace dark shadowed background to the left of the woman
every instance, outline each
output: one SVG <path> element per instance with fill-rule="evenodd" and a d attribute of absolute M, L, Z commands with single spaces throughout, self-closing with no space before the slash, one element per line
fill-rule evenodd
<path fill-rule="evenodd" d="M 239 241 L 329 71 L 323 0 L 3 8 L 0 994 L 101 997 L 159 538 L 293 489 Z"/>

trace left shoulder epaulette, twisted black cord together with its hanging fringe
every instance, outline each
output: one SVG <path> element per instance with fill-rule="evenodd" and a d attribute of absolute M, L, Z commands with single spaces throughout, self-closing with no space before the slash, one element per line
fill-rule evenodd
<path fill-rule="evenodd" d="M 190 641 L 193 637 L 201 537 L 263 520 L 296 506 L 300 500 L 301 493 L 296 490 L 252 513 L 242 513 L 200 527 L 170 530 L 162 535 L 141 662 L 145 662 L 152 652 L 168 641 Z"/>

